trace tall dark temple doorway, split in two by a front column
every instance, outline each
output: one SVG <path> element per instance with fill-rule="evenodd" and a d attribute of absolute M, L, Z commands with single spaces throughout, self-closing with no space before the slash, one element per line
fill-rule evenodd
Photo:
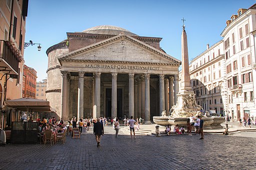
<path fill-rule="evenodd" d="M 111 118 L 112 115 L 112 89 L 106 89 L 106 114 L 105 116 Z M 117 88 L 117 118 L 122 117 L 122 89 Z"/>

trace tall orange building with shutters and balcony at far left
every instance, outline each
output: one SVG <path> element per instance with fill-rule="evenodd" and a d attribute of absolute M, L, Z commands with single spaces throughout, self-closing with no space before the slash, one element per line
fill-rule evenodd
<path fill-rule="evenodd" d="M 22 96 L 27 7 L 28 0 L 0 0 L 0 108 L 4 100 Z M 3 127 L 5 124 L 10 126 L 11 121 L 15 121 L 14 114 L 3 114 Z"/>

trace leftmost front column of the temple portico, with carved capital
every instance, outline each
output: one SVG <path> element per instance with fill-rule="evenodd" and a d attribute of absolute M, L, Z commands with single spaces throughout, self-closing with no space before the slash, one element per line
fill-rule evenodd
<path fill-rule="evenodd" d="M 60 107 L 60 116 L 59 118 L 63 119 L 66 121 L 67 119 L 67 110 L 66 110 L 66 106 L 67 106 L 67 71 L 60 71 L 61 73 L 61 99 L 60 99 L 60 103 L 61 103 L 61 107 Z"/>

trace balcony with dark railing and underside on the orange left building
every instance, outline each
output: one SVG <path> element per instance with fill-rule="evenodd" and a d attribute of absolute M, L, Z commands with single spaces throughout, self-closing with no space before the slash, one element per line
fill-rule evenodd
<path fill-rule="evenodd" d="M 18 75 L 19 51 L 8 41 L 0 40 L 0 71 Z"/>

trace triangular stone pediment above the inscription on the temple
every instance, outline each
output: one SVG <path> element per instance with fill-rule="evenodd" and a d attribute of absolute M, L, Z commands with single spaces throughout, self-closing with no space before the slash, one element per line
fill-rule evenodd
<path fill-rule="evenodd" d="M 180 61 L 125 34 L 117 35 L 58 57 L 60 63 L 75 61 L 139 62 L 179 65 Z"/>

